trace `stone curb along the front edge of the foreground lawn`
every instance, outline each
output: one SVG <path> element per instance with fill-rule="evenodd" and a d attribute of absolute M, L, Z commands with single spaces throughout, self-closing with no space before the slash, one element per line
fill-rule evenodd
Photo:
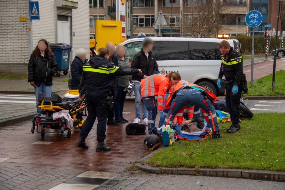
<path fill-rule="evenodd" d="M 142 159 L 143 160 L 143 159 Z M 202 175 L 211 177 L 229 177 L 229 178 L 243 178 L 263 181 L 285 181 L 285 172 L 267 171 L 255 169 L 210 169 L 210 168 L 159 168 L 148 166 L 143 163 L 136 163 L 136 167 L 142 171 L 155 174 L 173 174 L 173 175 Z"/>

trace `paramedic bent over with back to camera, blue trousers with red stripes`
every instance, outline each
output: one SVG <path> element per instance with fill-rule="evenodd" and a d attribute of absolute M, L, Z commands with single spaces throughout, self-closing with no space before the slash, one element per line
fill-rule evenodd
<path fill-rule="evenodd" d="M 176 127 L 176 132 L 180 134 L 183 122 L 184 107 L 196 106 L 202 109 L 207 122 L 207 127 L 212 129 L 212 138 L 221 138 L 222 136 L 219 132 L 220 128 L 217 120 L 216 110 L 212 105 L 212 103 L 217 100 L 217 97 L 196 84 L 191 84 L 188 82 L 184 82 L 182 84 L 183 85 L 180 86 L 176 85 L 174 88 L 175 93 L 172 95 L 170 110 L 166 116 L 164 125 L 171 125 L 175 115 L 177 114 L 178 126 Z M 178 114 L 181 111 L 182 113 Z"/>

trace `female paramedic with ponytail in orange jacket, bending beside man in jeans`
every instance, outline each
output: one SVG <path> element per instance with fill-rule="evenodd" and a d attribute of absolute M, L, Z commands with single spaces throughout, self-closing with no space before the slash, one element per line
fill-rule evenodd
<path fill-rule="evenodd" d="M 148 134 L 155 129 L 155 119 L 157 114 L 157 105 L 155 96 L 157 95 L 157 104 L 160 111 L 160 117 L 164 117 L 163 103 L 165 92 L 181 80 L 177 72 L 169 72 L 167 75 L 151 75 L 141 81 L 141 94 L 143 102 L 148 111 Z"/>

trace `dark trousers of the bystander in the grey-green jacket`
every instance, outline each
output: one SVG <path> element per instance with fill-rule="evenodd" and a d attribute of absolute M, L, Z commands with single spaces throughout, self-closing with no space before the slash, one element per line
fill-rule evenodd
<path fill-rule="evenodd" d="M 126 99 L 127 91 L 124 91 L 125 87 L 119 86 L 118 87 L 118 93 L 117 97 L 114 101 L 114 113 L 115 113 L 115 119 L 123 118 L 123 109 L 124 109 L 124 103 Z"/>

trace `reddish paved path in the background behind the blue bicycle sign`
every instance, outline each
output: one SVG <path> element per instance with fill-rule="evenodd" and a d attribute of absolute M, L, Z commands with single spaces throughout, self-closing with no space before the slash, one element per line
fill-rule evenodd
<path fill-rule="evenodd" d="M 276 71 L 285 68 L 285 59 L 276 60 Z M 247 82 L 251 81 L 251 65 L 243 67 L 243 72 L 246 75 Z M 253 66 L 253 80 L 257 80 L 261 77 L 265 77 L 273 72 L 273 60 L 260 62 Z"/>

